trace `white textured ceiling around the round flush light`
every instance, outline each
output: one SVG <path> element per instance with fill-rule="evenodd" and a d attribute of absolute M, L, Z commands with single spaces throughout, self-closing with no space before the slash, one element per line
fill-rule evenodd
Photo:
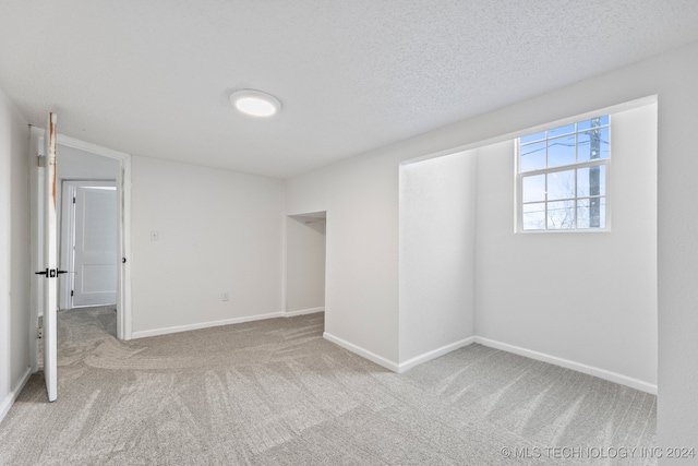
<path fill-rule="evenodd" d="M 76 139 L 286 178 L 695 40 L 696 0 L 0 0 L 0 89 Z"/>

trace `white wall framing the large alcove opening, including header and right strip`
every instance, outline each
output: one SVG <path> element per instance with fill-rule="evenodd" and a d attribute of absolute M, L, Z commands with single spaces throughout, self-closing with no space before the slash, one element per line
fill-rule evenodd
<path fill-rule="evenodd" d="M 696 82 L 698 44 L 693 44 L 289 180 L 288 214 L 327 211 L 326 326 L 344 336 L 345 346 L 373 351 L 374 360 L 397 360 L 400 160 L 504 141 L 534 126 L 658 95 L 658 434 L 664 446 L 695 445 L 698 215 L 690 210 L 698 201 Z"/>

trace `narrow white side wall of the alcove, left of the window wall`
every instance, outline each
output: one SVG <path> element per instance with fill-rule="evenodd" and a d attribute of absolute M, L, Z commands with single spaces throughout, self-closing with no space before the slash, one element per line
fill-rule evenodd
<path fill-rule="evenodd" d="M 400 167 L 400 370 L 472 343 L 474 151 Z"/>

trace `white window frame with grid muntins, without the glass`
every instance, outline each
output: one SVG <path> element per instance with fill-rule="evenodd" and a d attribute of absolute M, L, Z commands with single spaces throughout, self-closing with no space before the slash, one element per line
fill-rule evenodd
<path fill-rule="evenodd" d="M 604 115 L 599 115 L 597 117 L 602 117 Z M 566 124 L 571 124 L 571 123 L 578 123 L 581 121 L 586 121 L 592 118 L 597 118 L 597 117 L 585 117 L 585 118 L 578 118 L 578 119 L 574 119 L 571 121 L 567 120 L 566 122 L 557 122 L 557 123 L 553 123 L 553 124 L 547 124 L 544 128 L 540 128 L 540 129 L 534 129 L 531 131 L 527 131 L 527 133 L 525 135 L 528 134 L 534 134 L 538 132 L 542 132 L 542 131 L 547 131 L 551 129 L 555 129 L 558 127 L 564 127 Z M 567 164 L 567 165 L 556 165 L 553 167 L 545 167 L 545 168 L 539 168 L 535 170 L 529 170 L 529 171 L 521 171 L 520 169 L 520 165 L 521 165 L 521 155 L 520 155 L 520 151 L 521 151 L 521 139 L 517 138 L 516 139 L 516 144 L 515 144 L 515 232 L 517 234 L 526 234 L 526 235 L 530 235 L 530 234 L 570 234 L 570 232 L 610 232 L 611 231 L 611 218 L 612 218 L 612 213 L 611 213 L 611 183 L 612 183 L 612 174 L 611 174 L 611 160 L 613 157 L 613 147 L 612 147 L 612 127 L 613 127 L 613 122 L 612 122 L 612 115 L 607 115 L 609 117 L 609 123 L 607 123 L 607 128 L 609 128 L 609 157 L 606 158 L 598 158 L 598 159 L 592 159 L 592 160 L 585 160 L 585 162 L 577 162 L 574 164 Z M 606 126 L 603 126 L 602 128 L 606 128 Z M 588 131 L 588 129 L 583 129 L 583 130 L 579 130 L 578 128 L 575 129 L 574 133 L 567 133 L 567 134 L 579 134 L 579 133 L 583 133 Z M 545 136 L 544 140 L 541 141 L 547 141 L 552 138 L 547 138 L 547 134 Z M 578 141 L 577 139 L 575 139 L 575 141 Z M 578 143 L 576 144 L 576 146 L 578 147 Z M 547 157 L 546 157 L 546 165 L 547 165 Z M 547 198 L 544 201 L 538 201 L 537 203 L 543 202 L 545 204 L 545 228 L 544 229 L 524 229 L 524 205 L 525 204 L 532 204 L 534 202 L 528 202 L 525 203 L 524 202 L 524 178 L 525 177 L 531 177 L 531 176 L 537 176 L 537 175 L 547 175 L 547 174 L 555 174 L 558 171 L 567 171 L 567 170 L 578 170 L 581 168 L 588 168 L 588 167 L 597 167 L 597 166 L 603 166 L 605 167 L 605 194 L 602 196 L 605 200 L 605 218 L 604 218 L 604 227 L 590 227 L 590 228 L 579 228 L 577 227 L 577 204 L 576 202 L 578 200 L 583 200 L 583 199 L 590 199 L 590 198 L 569 198 L 569 199 L 555 199 L 552 201 L 549 201 Z M 547 177 L 545 177 L 545 179 L 547 179 Z M 577 177 L 575 177 L 575 183 L 577 182 Z M 545 191 L 547 191 L 547 186 L 545 187 Z M 576 190 L 576 186 L 575 186 L 575 194 L 577 193 Z M 562 201 L 575 201 L 575 228 L 547 228 L 547 205 L 551 202 L 562 202 Z"/>

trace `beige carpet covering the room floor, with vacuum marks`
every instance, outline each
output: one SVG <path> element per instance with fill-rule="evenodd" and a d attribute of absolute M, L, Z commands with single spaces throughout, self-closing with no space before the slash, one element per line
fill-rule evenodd
<path fill-rule="evenodd" d="M 652 395 L 481 345 L 395 374 L 323 326 L 119 342 L 113 309 L 61 312 L 59 399 L 32 377 L 0 425 L 0 464 L 655 464 L 630 455 L 654 445 Z"/>

